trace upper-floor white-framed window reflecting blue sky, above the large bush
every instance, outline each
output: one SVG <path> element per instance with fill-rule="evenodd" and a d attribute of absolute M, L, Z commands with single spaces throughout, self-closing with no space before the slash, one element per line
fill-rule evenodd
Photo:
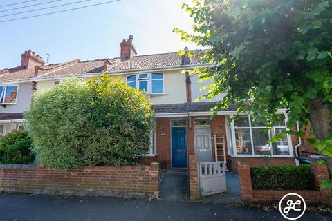
<path fill-rule="evenodd" d="M 127 76 L 127 86 L 149 94 L 164 93 L 163 73 L 141 73 Z"/>

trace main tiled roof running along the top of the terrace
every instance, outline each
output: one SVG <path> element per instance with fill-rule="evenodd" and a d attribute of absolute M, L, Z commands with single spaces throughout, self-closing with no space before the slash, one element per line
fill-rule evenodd
<path fill-rule="evenodd" d="M 170 52 L 155 55 L 139 55 L 131 59 L 121 61 L 116 57 L 108 59 L 109 67 L 107 72 L 120 73 L 130 70 L 151 70 L 155 68 L 169 68 L 181 67 L 182 57 L 177 52 Z M 201 64 L 200 59 L 197 57 L 190 57 L 188 65 Z M 38 77 L 61 77 L 68 75 L 84 75 L 88 73 L 100 73 L 104 70 L 104 59 L 94 61 L 80 61 L 75 59 L 62 64 L 50 64 L 46 66 L 39 66 Z M 33 68 L 10 68 L 0 70 L 0 81 L 29 79 L 35 76 L 35 67 Z"/>

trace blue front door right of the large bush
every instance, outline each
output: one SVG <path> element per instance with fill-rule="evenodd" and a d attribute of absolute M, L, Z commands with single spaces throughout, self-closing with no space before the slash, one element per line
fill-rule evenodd
<path fill-rule="evenodd" d="M 172 166 L 187 167 L 187 137 L 185 127 L 172 127 Z"/>

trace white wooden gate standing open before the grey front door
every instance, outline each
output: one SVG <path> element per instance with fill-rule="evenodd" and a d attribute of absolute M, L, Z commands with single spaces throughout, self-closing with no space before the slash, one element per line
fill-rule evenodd
<path fill-rule="evenodd" d="M 226 191 L 226 168 L 224 161 L 199 163 L 199 187 L 203 195 Z"/>

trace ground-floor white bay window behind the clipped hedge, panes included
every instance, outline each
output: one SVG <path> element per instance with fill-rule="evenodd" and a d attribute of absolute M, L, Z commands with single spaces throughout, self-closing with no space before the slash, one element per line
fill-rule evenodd
<path fill-rule="evenodd" d="M 293 157 L 290 135 L 286 135 L 279 142 L 268 142 L 283 131 L 286 131 L 285 122 L 267 129 L 264 123 L 253 122 L 252 115 L 239 115 L 239 119 L 232 121 L 227 131 L 231 135 L 231 140 L 228 139 L 228 153 L 243 157 Z"/>

